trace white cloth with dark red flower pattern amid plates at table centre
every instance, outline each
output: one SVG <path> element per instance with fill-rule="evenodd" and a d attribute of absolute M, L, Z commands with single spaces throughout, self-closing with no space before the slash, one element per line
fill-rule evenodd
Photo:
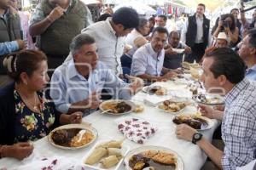
<path fill-rule="evenodd" d="M 127 139 L 138 144 L 144 144 L 157 131 L 157 128 L 153 127 L 149 122 L 137 118 L 125 119 L 125 121 L 119 123 L 118 128 Z"/>

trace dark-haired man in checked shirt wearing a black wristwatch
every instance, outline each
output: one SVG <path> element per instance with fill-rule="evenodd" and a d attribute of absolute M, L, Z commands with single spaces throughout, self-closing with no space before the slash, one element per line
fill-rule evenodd
<path fill-rule="evenodd" d="M 201 133 L 185 124 L 178 125 L 178 139 L 197 144 L 221 169 L 233 170 L 256 158 L 256 83 L 245 78 L 245 64 L 230 48 L 205 54 L 202 82 L 207 90 L 223 88 L 224 112 L 201 105 L 203 116 L 222 121 L 224 151 L 215 148 Z"/>

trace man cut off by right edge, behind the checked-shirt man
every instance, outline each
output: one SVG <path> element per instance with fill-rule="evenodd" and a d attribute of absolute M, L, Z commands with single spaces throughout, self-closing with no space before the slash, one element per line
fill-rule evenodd
<path fill-rule="evenodd" d="M 256 81 L 256 28 L 248 31 L 238 53 L 247 64 L 247 79 Z"/>

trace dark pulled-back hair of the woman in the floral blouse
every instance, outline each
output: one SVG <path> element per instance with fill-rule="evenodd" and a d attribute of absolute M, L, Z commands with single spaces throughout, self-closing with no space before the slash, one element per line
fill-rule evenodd
<path fill-rule="evenodd" d="M 38 70 L 41 61 L 47 60 L 42 51 L 26 49 L 20 52 L 9 54 L 4 60 L 3 65 L 7 68 L 9 77 L 15 82 L 20 82 L 20 74 L 26 72 L 28 77 Z"/>

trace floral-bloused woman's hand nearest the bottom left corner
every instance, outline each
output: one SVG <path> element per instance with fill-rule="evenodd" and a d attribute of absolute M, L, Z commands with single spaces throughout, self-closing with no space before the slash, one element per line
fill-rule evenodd
<path fill-rule="evenodd" d="M 33 145 L 29 144 L 28 142 L 20 142 L 13 145 L 3 145 L 2 147 L 3 157 L 14 157 L 18 160 L 23 160 L 27 156 L 30 156 L 34 149 Z"/>

